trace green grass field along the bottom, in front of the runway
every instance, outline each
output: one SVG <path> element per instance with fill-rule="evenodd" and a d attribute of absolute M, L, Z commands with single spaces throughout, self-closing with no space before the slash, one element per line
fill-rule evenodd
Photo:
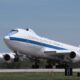
<path fill-rule="evenodd" d="M 0 80 L 80 80 L 77 73 L 64 76 L 64 73 L 0 73 Z"/>

